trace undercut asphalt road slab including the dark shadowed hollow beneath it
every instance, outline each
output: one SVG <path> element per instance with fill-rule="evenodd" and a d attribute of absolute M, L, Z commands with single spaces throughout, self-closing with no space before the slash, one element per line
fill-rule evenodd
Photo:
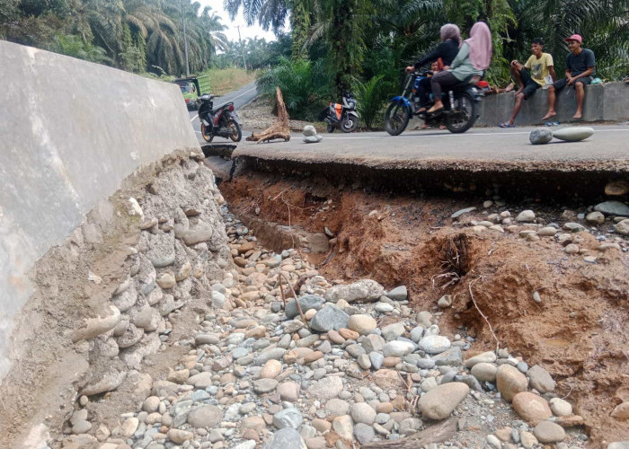
<path fill-rule="evenodd" d="M 566 201 L 600 198 L 629 172 L 629 128 L 598 126 L 583 142 L 531 145 L 528 133 L 478 130 L 465 135 L 410 132 L 324 136 L 319 144 L 243 143 L 233 157 L 252 170 L 322 177 L 394 192 L 490 191 L 505 198 Z"/>

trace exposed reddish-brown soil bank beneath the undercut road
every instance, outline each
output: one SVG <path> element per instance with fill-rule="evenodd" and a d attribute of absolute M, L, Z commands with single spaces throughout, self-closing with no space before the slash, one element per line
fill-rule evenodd
<path fill-rule="evenodd" d="M 553 237 L 529 242 L 517 233 L 479 232 L 467 225 L 487 214 L 533 208 L 539 223 L 561 226 L 587 207 L 564 212 L 499 202 L 501 207 L 483 209 L 479 198 L 464 203 L 392 197 L 332 187 L 323 177 L 286 180 L 252 172 L 220 189 L 236 215 L 299 225 L 311 233 L 327 227 L 334 234 L 330 252 L 310 258 L 330 279 L 369 277 L 386 287 L 405 285 L 418 312 L 435 309 L 441 295 L 453 295 L 453 306 L 439 321 L 442 332 L 465 329 L 476 335 L 473 353 L 495 349 L 497 339 L 529 365 L 543 365 L 557 381 L 558 395 L 568 396 L 585 418 L 590 447 L 629 440 L 627 421 L 610 416 L 629 394 L 629 253 L 599 251 L 596 235 L 588 232 L 576 237 L 580 254 L 568 255 Z M 452 223 L 456 210 L 471 206 L 477 210 Z M 600 225 L 600 233 L 610 227 Z M 457 237 L 460 233 L 466 238 Z M 258 238 L 264 244 L 265 236 Z M 614 239 L 607 234 L 607 242 Z M 629 246 L 626 240 L 620 244 Z M 458 250 L 466 260 L 452 257 Z M 587 263 L 588 255 L 596 256 L 596 263 Z M 533 300 L 534 292 L 541 303 Z"/>

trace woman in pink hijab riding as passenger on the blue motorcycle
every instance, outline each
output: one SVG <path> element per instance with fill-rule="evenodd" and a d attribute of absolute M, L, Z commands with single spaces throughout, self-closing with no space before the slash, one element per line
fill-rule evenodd
<path fill-rule="evenodd" d="M 470 37 L 463 42 L 458 50 L 452 66 L 430 78 L 435 104 L 429 113 L 439 113 L 443 110 L 441 92 L 444 89 L 461 83 L 468 76 L 483 75 L 492 60 L 492 31 L 485 22 L 476 22 L 470 30 Z"/>

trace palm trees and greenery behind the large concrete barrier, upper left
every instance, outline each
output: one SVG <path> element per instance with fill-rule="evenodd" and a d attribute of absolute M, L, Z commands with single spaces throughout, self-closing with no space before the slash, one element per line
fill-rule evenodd
<path fill-rule="evenodd" d="M 217 48 L 224 47 L 226 27 L 210 7 L 201 10 L 198 2 L 0 0 L 1 38 L 132 72 L 159 66 L 172 75 L 185 73 L 182 21 L 190 71 L 202 71 L 216 57 Z"/>

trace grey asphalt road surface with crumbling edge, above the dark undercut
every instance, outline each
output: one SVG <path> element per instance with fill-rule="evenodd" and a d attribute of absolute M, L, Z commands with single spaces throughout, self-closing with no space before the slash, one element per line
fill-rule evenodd
<path fill-rule="evenodd" d="M 371 167 L 425 167 L 435 169 L 457 166 L 474 169 L 518 165 L 527 170 L 553 168 L 570 170 L 574 164 L 590 163 L 592 168 L 629 172 L 629 126 L 588 125 L 593 136 L 582 142 L 554 139 L 546 145 L 531 145 L 528 135 L 535 127 L 501 129 L 473 128 L 464 134 L 448 131 L 406 131 L 401 136 L 385 132 L 323 134 L 318 144 L 305 144 L 298 133 L 289 142 L 268 144 L 241 142 L 236 156 L 269 161 L 299 163 L 350 163 Z"/>

